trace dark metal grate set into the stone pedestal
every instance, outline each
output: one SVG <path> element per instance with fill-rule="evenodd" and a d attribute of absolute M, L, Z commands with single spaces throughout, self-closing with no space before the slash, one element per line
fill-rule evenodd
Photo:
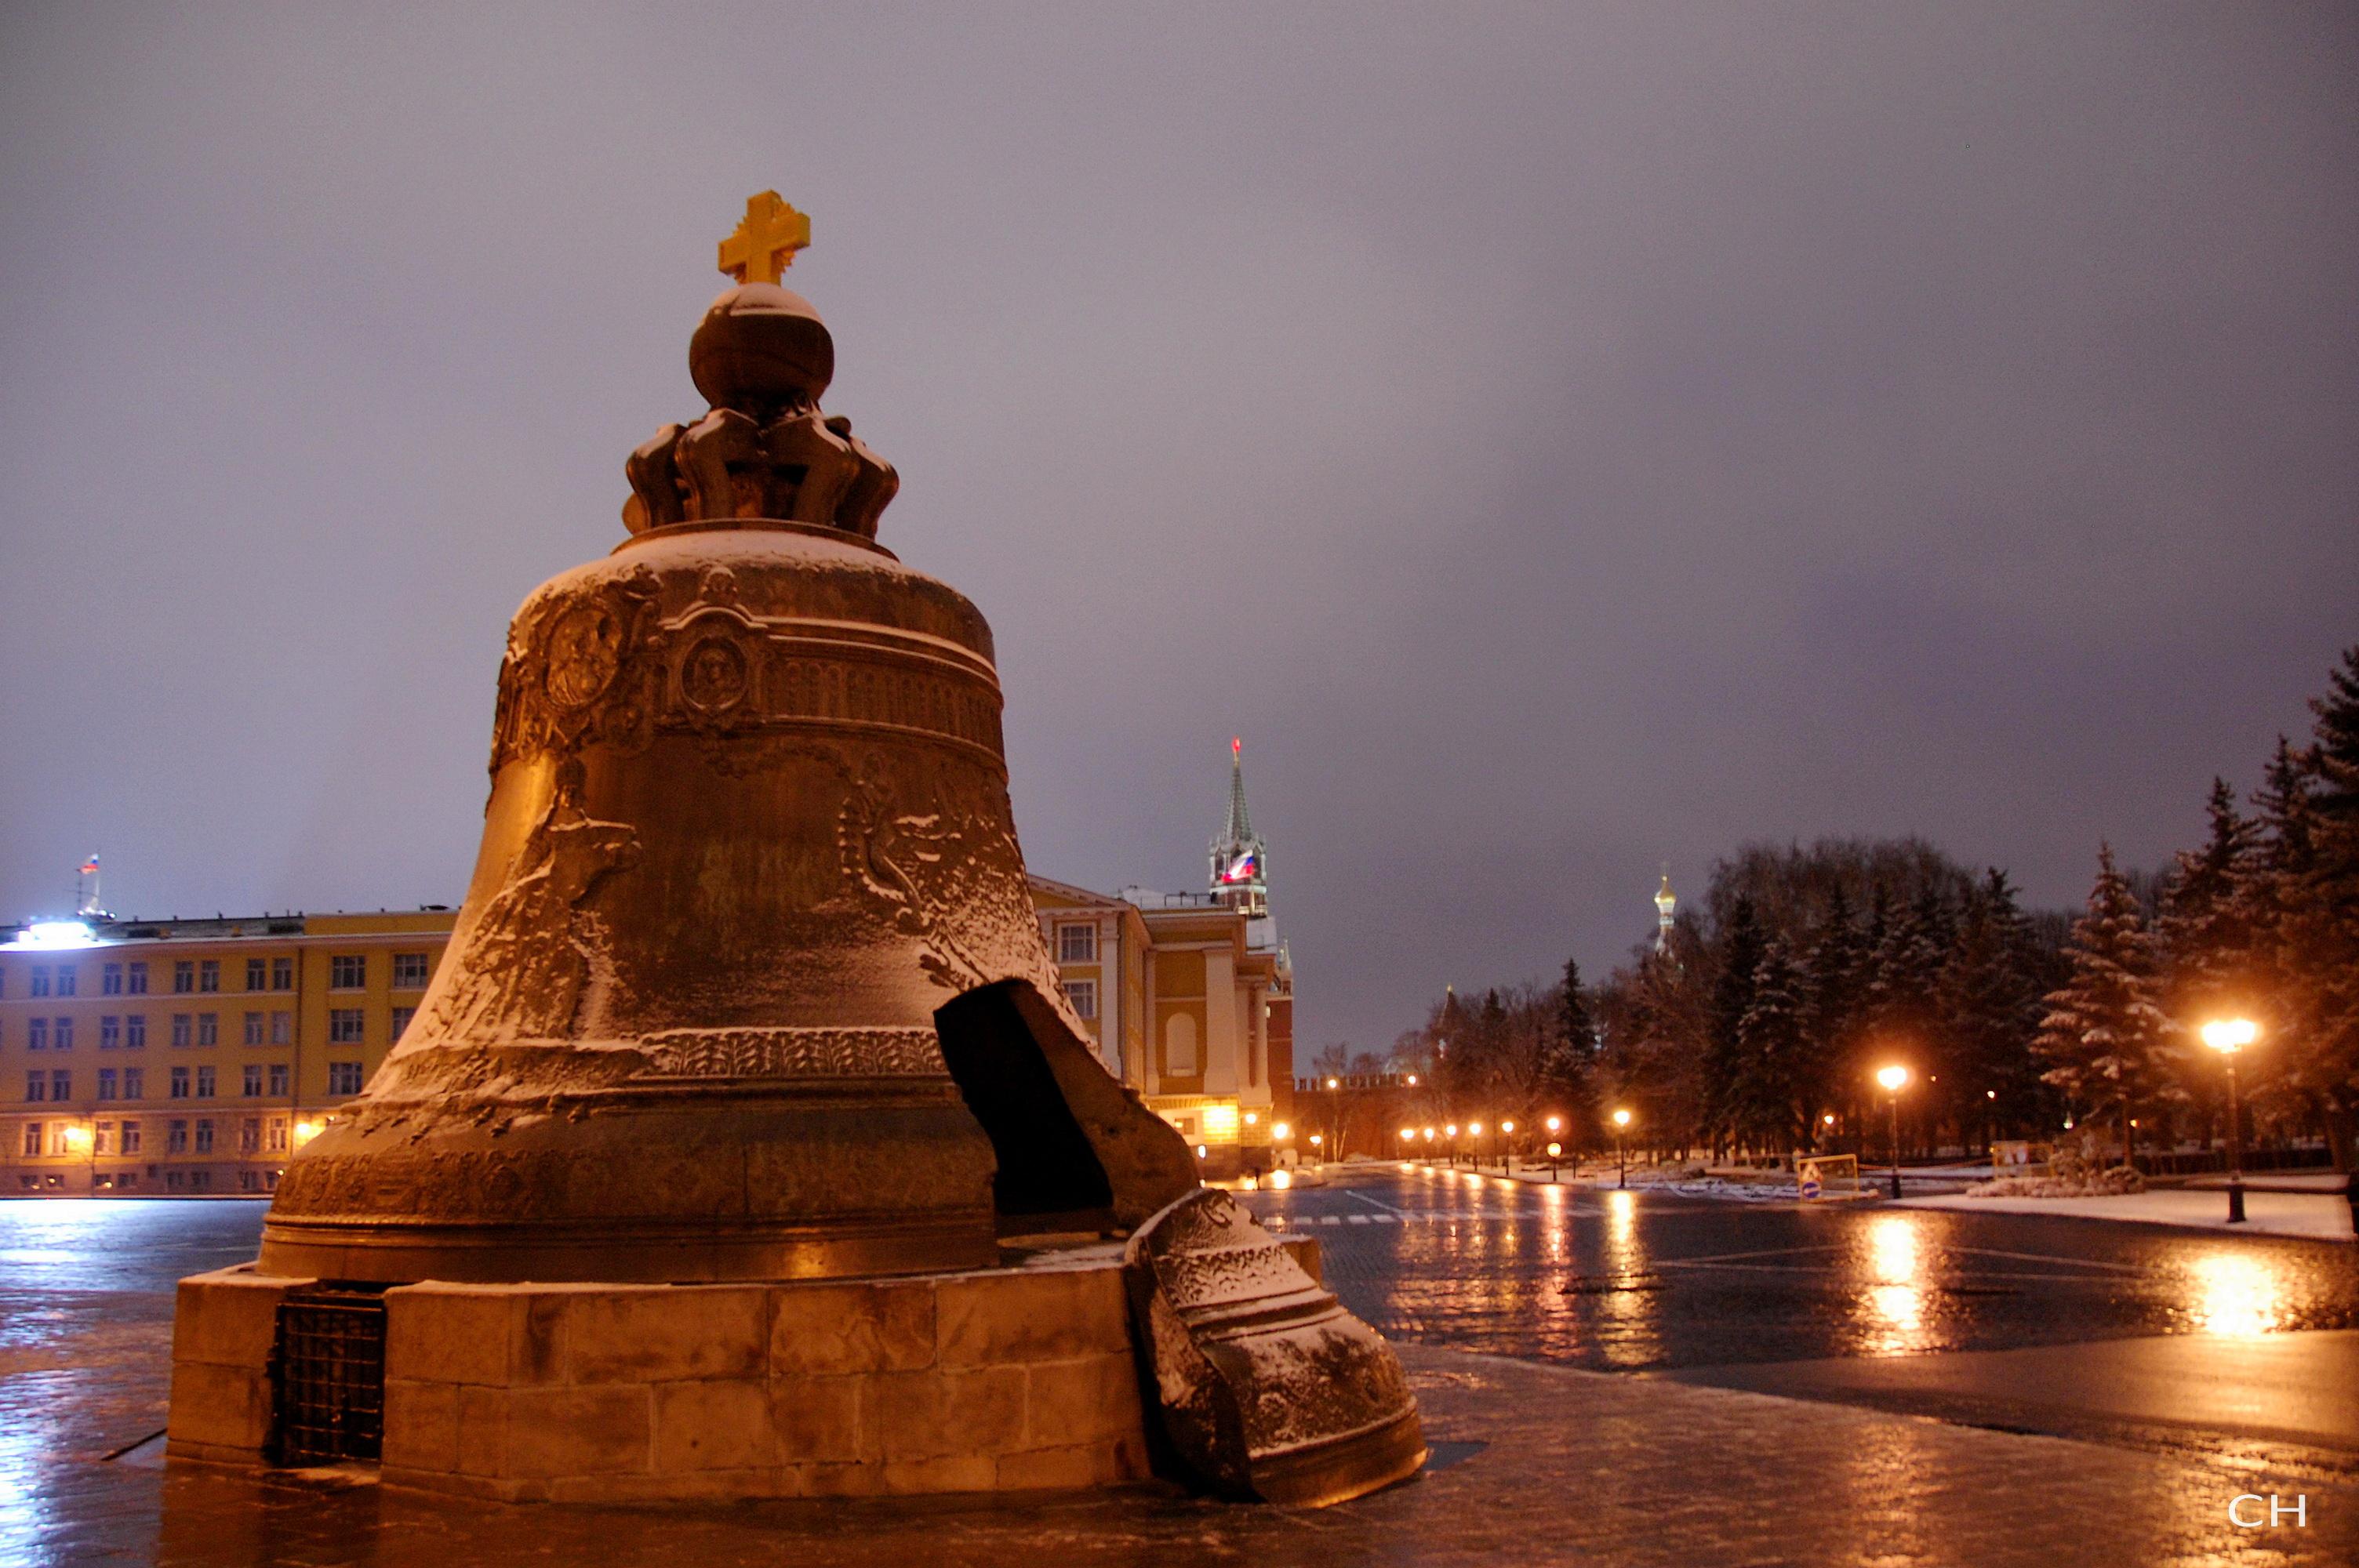
<path fill-rule="evenodd" d="M 385 1445 L 385 1294 L 288 1294 L 278 1304 L 271 1398 L 278 1464 L 375 1462 Z"/>

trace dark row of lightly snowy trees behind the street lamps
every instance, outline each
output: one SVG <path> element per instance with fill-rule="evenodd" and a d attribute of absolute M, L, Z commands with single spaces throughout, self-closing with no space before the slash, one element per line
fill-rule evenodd
<path fill-rule="evenodd" d="M 2128 1151 L 2225 1134 L 2222 1063 L 2196 1030 L 2248 1016 L 2258 1132 L 2324 1134 L 2350 1167 L 2359 648 L 2312 714 L 2250 809 L 2213 783 L 2206 844 L 2161 875 L 2125 875 L 2100 846 L 2078 917 L 2024 910 L 2003 870 L 1920 839 L 1750 844 L 1668 943 L 1595 986 L 1566 964 L 1557 983 L 1451 993 L 1385 1066 L 1420 1075 L 1434 1118 L 1555 1113 L 1566 1144 L 1597 1148 L 1621 1106 L 1647 1146 L 1732 1155 L 1882 1148 L 1873 1070 L 1899 1061 L 1906 1144 L 2102 1122 Z"/>

